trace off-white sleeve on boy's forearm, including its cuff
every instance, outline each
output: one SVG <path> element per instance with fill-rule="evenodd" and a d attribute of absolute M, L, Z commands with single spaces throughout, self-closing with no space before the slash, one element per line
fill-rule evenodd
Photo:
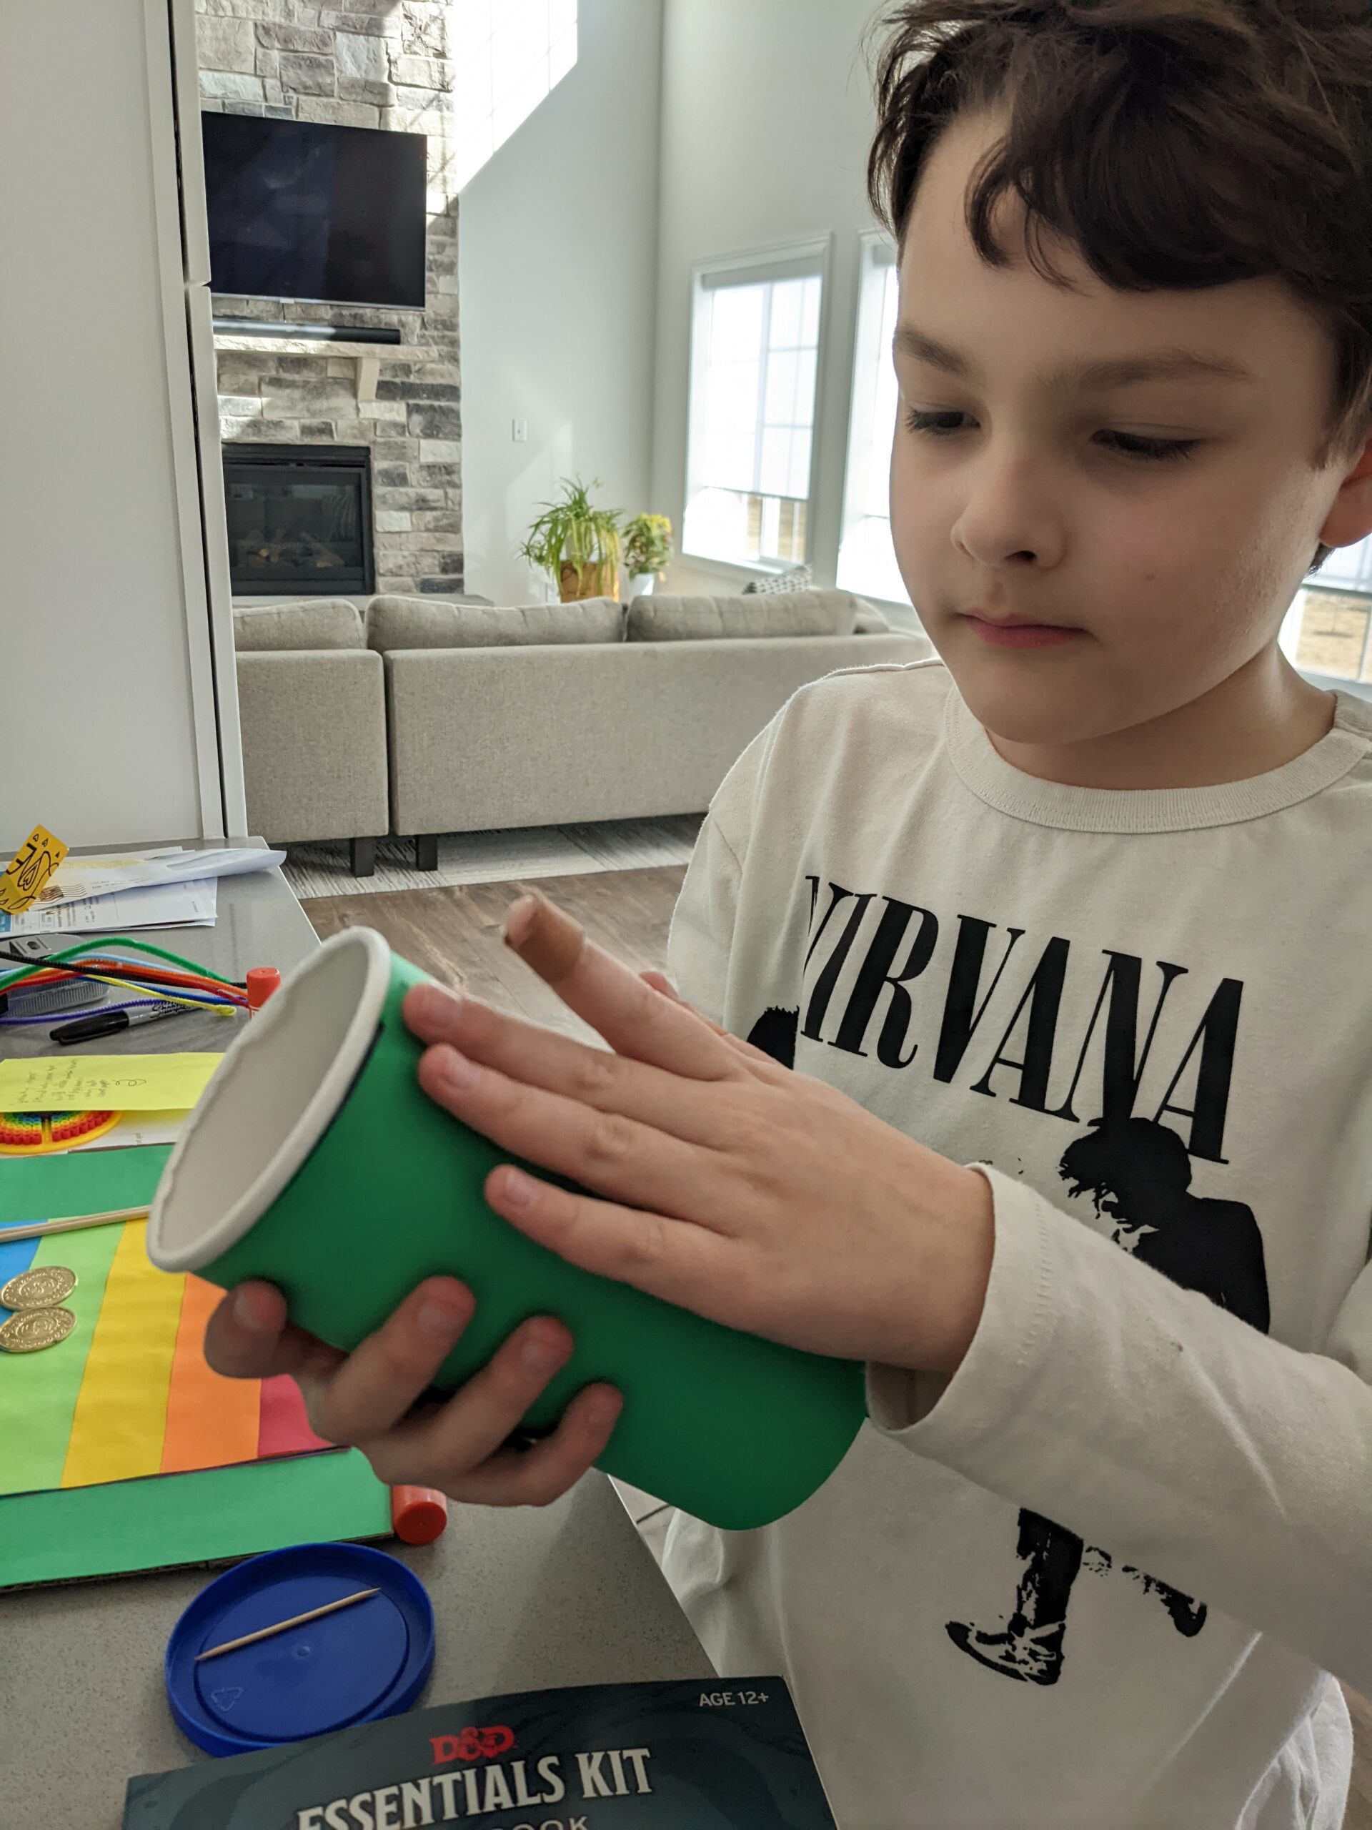
<path fill-rule="evenodd" d="M 878 1427 L 1372 1689 L 1372 1389 L 988 1186 L 982 1327 L 942 1389 L 873 1367 Z"/>

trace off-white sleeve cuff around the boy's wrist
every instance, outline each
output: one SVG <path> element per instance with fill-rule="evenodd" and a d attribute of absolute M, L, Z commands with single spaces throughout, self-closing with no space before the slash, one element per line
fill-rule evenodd
<path fill-rule="evenodd" d="M 977 1332 L 957 1372 L 867 1365 L 867 1415 L 880 1431 L 935 1460 L 997 1429 L 1050 1332 L 1050 1243 L 1035 1193 L 988 1164 L 993 1246 Z"/>

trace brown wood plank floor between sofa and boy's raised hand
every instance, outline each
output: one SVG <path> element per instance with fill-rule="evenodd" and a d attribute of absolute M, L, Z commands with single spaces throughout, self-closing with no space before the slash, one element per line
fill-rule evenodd
<path fill-rule="evenodd" d="M 585 928 L 593 941 L 635 972 L 662 968 L 668 924 L 681 889 L 681 866 L 552 877 L 536 888 Z M 531 882 L 402 889 L 382 895 L 318 897 L 302 908 L 320 939 L 340 928 L 375 928 L 386 941 L 446 985 L 461 985 L 499 1010 L 582 1039 L 587 1027 L 536 979 L 501 941 L 505 911 Z M 1343 1830 L 1372 1830 L 1372 1706 L 1345 1685 L 1354 1718 L 1354 1779 Z"/>

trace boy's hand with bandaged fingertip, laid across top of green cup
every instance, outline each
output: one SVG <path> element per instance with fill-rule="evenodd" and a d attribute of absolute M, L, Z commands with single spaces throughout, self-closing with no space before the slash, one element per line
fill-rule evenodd
<path fill-rule="evenodd" d="M 434 1045 L 426 1093 L 595 1190 L 501 1166 L 487 1179 L 498 1213 L 573 1265 L 728 1327 L 957 1369 L 991 1265 L 975 1169 L 728 1036 L 660 977 L 637 979 L 541 897 L 516 904 L 507 939 L 615 1052 L 432 985 L 406 996 L 406 1023 Z"/>

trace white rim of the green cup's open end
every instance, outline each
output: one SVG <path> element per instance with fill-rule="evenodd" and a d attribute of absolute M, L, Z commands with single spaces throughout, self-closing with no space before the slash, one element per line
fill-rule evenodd
<path fill-rule="evenodd" d="M 179 1184 L 185 1182 L 187 1157 L 199 1147 L 203 1135 L 216 1122 L 216 1107 L 225 1096 L 232 1096 L 240 1074 L 252 1072 L 262 1050 L 271 1049 L 280 1039 L 278 1032 L 291 1021 L 296 1008 L 298 986 L 320 970 L 335 970 L 333 961 L 338 953 L 357 950 L 366 955 L 360 996 L 337 1052 L 324 1069 L 315 1093 L 291 1125 L 289 1135 L 271 1151 L 258 1173 L 252 1175 L 249 1184 L 221 1213 L 214 1215 L 203 1226 L 187 1228 L 176 1208 Z M 146 1244 L 148 1257 L 159 1270 L 194 1272 L 203 1265 L 214 1263 L 230 1246 L 238 1244 L 278 1199 L 291 1177 L 296 1175 L 324 1136 L 331 1118 L 348 1096 L 375 1038 L 390 988 L 390 975 L 391 950 L 386 941 L 373 928 L 346 928 L 287 974 L 269 1003 L 258 1010 L 251 1023 L 243 1025 L 225 1050 L 223 1061 L 216 1067 L 199 1103 L 187 1118 L 185 1129 L 157 1184 L 148 1215 Z"/>

